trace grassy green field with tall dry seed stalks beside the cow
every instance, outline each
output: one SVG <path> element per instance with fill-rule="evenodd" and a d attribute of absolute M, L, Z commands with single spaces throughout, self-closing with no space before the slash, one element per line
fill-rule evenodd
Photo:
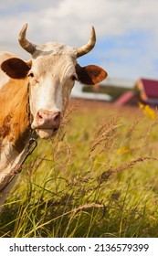
<path fill-rule="evenodd" d="M 27 160 L 0 236 L 158 237 L 157 203 L 157 113 L 73 101 Z"/>

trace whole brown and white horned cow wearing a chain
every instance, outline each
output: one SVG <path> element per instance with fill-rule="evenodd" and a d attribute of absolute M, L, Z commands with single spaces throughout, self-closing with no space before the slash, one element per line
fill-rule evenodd
<path fill-rule="evenodd" d="M 99 66 L 80 67 L 77 62 L 95 46 L 94 27 L 89 42 L 79 48 L 55 42 L 33 44 L 26 29 L 27 24 L 18 41 L 31 59 L 0 53 L 0 208 L 37 137 L 48 139 L 58 132 L 75 81 L 93 85 L 107 77 Z"/>

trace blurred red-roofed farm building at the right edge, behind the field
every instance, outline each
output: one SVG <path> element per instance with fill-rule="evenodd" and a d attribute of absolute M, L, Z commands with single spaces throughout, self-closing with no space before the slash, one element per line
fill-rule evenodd
<path fill-rule="evenodd" d="M 158 106 L 158 80 L 140 79 L 136 82 L 135 89 L 142 103 Z"/>

